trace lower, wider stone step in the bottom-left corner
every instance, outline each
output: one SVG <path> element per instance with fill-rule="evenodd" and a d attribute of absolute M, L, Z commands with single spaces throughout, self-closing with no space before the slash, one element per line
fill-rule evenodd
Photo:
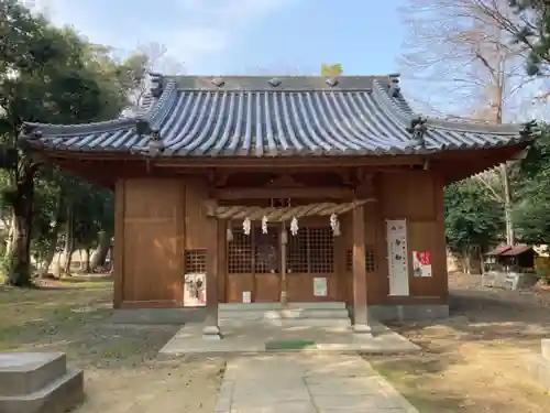
<path fill-rule="evenodd" d="M 11 396 L 0 395 L 0 412 L 65 413 L 82 401 L 84 372 L 81 370 L 68 371 L 35 392 Z"/>

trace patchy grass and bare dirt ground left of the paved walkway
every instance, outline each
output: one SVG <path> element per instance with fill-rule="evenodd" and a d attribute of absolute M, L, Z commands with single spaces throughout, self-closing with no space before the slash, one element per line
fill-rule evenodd
<path fill-rule="evenodd" d="M 0 351 L 64 351 L 85 369 L 77 413 L 210 413 L 221 359 L 155 360 L 177 326 L 111 323 L 112 281 L 75 276 L 42 289 L 0 286 Z"/>

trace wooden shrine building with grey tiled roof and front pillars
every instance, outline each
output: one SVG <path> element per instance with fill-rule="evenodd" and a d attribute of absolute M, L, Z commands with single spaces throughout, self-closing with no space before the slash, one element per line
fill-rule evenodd
<path fill-rule="evenodd" d="M 142 107 L 25 123 L 21 143 L 116 194 L 116 308 L 344 303 L 354 329 L 447 316 L 443 187 L 532 124 L 415 113 L 397 75 L 152 75 Z"/>

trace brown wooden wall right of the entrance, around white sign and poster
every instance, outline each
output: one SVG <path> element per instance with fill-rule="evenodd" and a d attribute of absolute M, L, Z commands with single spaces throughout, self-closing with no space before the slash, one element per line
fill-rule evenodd
<path fill-rule="evenodd" d="M 443 184 L 431 171 L 385 173 L 376 182 L 378 202 L 365 209 L 365 240 L 375 240 L 376 272 L 367 274 L 374 304 L 444 303 L 448 298 Z M 388 296 L 386 219 L 407 219 L 409 297 Z M 432 276 L 413 276 L 413 251 L 430 251 Z"/>

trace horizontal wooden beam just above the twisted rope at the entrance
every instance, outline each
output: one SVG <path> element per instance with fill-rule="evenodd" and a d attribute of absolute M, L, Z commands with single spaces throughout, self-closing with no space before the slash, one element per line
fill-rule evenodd
<path fill-rule="evenodd" d="M 289 187 L 289 188 L 243 188 L 224 187 L 215 189 L 212 197 L 222 200 L 270 199 L 270 198 L 328 198 L 352 199 L 354 191 L 341 186 Z"/>

